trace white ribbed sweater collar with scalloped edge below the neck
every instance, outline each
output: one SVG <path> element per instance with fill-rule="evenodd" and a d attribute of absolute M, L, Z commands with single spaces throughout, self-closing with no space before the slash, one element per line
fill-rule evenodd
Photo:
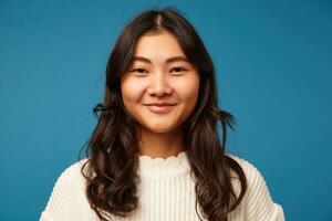
<path fill-rule="evenodd" d="M 177 156 L 152 158 L 139 155 L 138 175 L 151 179 L 178 177 L 190 171 L 190 165 L 185 151 Z"/>

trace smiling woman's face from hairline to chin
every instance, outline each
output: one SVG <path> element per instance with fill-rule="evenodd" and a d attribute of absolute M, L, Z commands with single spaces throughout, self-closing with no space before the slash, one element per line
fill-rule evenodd
<path fill-rule="evenodd" d="M 142 130 L 179 128 L 196 106 L 198 90 L 198 71 L 173 34 L 149 32 L 138 39 L 133 63 L 121 78 L 121 91 L 126 110 Z"/>

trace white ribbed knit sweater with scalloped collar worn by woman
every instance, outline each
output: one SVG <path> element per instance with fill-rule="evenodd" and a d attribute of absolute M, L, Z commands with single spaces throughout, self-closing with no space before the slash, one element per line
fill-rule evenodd
<path fill-rule="evenodd" d="M 280 204 L 273 202 L 259 170 L 247 160 L 228 155 L 245 170 L 248 190 L 240 206 L 230 213 L 229 221 L 283 221 Z M 97 221 L 85 197 L 85 179 L 81 175 L 82 159 L 66 168 L 58 178 L 40 221 Z M 167 159 L 139 156 L 137 183 L 139 206 L 127 218 L 133 221 L 199 221 L 195 210 L 195 182 L 185 151 Z M 239 192 L 239 181 L 234 179 Z M 198 206 L 199 207 L 199 206 Z M 203 214 L 197 210 L 200 218 Z M 203 219 L 206 220 L 206 219 Z"/>

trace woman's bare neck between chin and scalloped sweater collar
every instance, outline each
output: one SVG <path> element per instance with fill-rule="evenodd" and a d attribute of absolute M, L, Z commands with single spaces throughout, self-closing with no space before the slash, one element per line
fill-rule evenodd
<path fill-rule="evenodd" d="M 154 133 L 142 129 L 139 155 L 152 158 L 168 158 L 184 151 L 183 134 L 179 129 L 170 133 Z"/>

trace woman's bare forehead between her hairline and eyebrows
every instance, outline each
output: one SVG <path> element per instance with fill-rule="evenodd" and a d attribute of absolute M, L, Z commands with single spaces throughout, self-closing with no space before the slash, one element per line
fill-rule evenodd
<path fill-rule="evenodd" d="M 176 36 L 165 30 L 151 31 L 141 35 L 135 45 L 134 56 L 145 56 L 151 60 L 186 57 Z"/>

